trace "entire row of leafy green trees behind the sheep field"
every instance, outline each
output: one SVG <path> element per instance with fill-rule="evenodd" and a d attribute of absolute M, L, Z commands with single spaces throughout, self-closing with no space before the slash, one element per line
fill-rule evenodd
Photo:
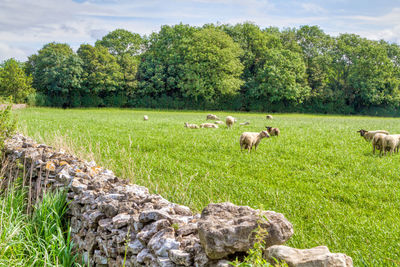
<path fill-rule="evenodd" d="M 400 46 L 318 26 L 117 29 L 0 65 L 0 96 L 56 107 L 400 115 Z"/>

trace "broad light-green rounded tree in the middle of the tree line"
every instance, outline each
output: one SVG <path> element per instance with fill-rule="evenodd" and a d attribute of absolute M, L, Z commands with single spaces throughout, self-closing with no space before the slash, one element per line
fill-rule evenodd
<path fill-rule="evenodd" d="M 194 33 L 185 55 L 185 73 L 179 83 L 184 97 L 213 101 L 239 91 L 243 81 L 240 46 L 219 29 Z"/>

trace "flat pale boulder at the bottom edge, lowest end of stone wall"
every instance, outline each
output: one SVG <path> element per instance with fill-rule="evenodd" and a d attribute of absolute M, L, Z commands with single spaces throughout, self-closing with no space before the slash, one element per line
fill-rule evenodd
<path fill-rule="evenodd" d="M 285 261 L 289 267 L 350 267 L 351 257 L 342 253 L 331 253 L 325 246 L 296 249 L 287 246 L 272 246 L 264 252 L 270 263 Z"/>

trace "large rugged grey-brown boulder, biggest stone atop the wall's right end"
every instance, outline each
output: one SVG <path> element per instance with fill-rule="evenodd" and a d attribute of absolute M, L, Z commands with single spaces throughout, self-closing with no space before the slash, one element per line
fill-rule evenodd
<path fill-rule="evenodd" d="M 198 222 L 201 245 L 210 259 L 245 252 L 255 243 L 258 227 L 266 247 L 280 245 L 293 235 L 292 224 L 280 213 L 254 210 L 232 203 L 209 204 Z"/>

